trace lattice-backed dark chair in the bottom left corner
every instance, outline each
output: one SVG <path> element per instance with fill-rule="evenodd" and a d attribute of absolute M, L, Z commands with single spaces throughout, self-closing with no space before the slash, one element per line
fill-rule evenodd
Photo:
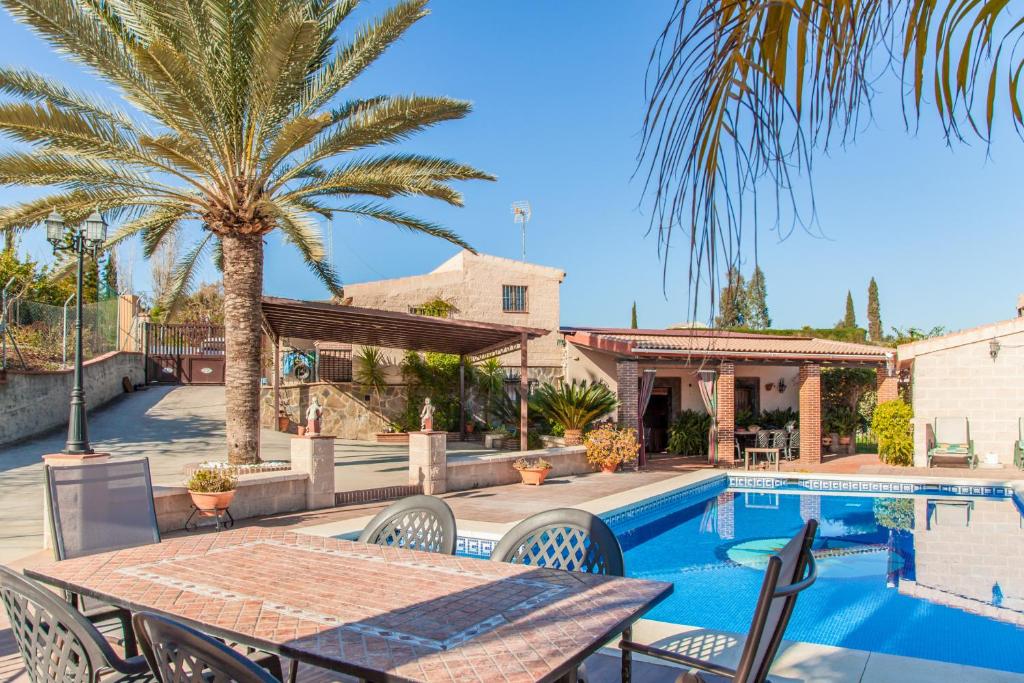
<path fill-rule="evenodd" d="M 0 566 L 0 599 L 32 683 L 152 681 L 145 658 L 122 658 L 68 602 Z"/>

